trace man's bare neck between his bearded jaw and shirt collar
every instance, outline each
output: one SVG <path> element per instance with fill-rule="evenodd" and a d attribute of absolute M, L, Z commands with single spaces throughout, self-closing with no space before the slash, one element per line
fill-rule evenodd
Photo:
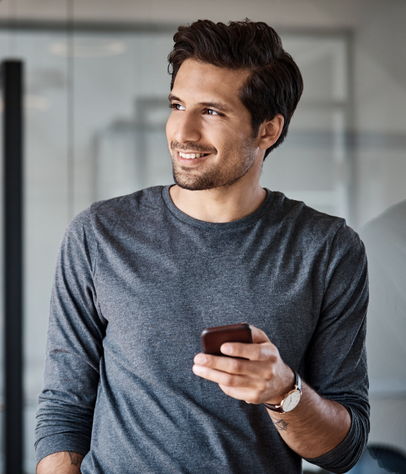
<path fill-rule="evenodd" d="M 259 180 L 256 186 L 247 186 L 244 177 L 231 186 L 204 191 L 189 191 L 175 185 L 169 194 L 182 213 L 206 222 L 231 222 L 247 217 L 267 197 L 267 191 L 261 188 Z"/>

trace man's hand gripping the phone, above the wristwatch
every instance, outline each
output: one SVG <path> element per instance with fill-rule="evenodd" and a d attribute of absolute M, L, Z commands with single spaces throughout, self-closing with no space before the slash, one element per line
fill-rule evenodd
<path fill-rule="evenodd" d="M 293 390 L 295 375 L 262 330 L 251 326 L 251 332 L 253 344 L 222 344 L 221 352 L 231 357 L 197 354 L 193 373 L 216 382 L 230 397 L 253 404 L 280 404 Z"/>

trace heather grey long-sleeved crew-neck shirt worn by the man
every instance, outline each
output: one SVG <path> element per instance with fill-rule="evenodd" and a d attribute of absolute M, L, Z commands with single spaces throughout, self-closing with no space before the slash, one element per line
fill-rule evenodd
<path fill-rule="evenodd" d="M 367 442 L 367 262 L 343 219 L 267 192 L 210 223 L 158 186 L 93 204 L 61 244 L 52 288 L 37 460 L 86 455 L 85 474 L 301 472 L 262 405 L 192 372 L 200 332 L 249 322 L 351 414 L 334 473 Z"/>

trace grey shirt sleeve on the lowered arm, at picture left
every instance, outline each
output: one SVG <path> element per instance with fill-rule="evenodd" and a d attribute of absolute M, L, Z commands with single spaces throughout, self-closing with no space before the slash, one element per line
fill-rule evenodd
<path fill-rule="evenodd" d="M 93 281 L 96 257 L 88 209 L 70 223 L 59 248 L 35 428 L 37 462 L 59 451 L 86 455 L 90 448 L 106 330 Z"/>

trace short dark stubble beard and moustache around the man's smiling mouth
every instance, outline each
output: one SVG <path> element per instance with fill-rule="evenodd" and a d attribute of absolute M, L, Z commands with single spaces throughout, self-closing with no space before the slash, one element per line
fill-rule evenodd
<path fill-rule="evenodd" d="M 207 164 L 202 172 L 197 172 L 189 166 L 182 166 L 177 162 L 175 148 L 178 150 L 193 150 L 200 153 L 212 153 L 217 155 L 218 151 L 213 147 L 202 145 L 184 146 L 176 141 L 171 143 L 172 174 L 173 180 L 180 188 L 190 191 L 204 191 L 221 186 L 231 186 L 241 179 L 251 168 L 255 159 L 255 138 L 249 138 L 237 146 L 225 148 L 222 152 L 222 163 L 211 162 Z M 239 157 L 236 160 L 236 157 Z"/>

